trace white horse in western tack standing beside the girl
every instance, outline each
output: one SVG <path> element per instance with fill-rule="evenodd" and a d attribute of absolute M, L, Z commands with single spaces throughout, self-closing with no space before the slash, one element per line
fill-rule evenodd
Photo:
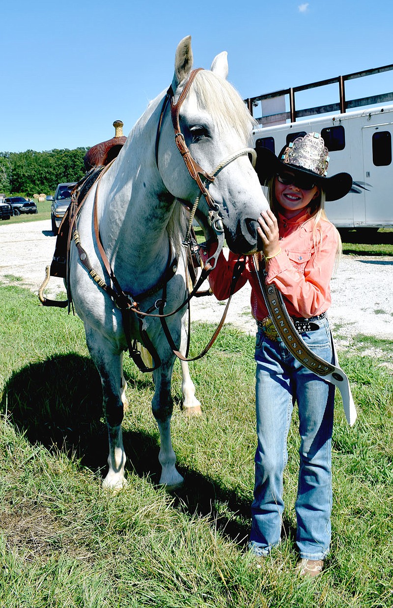
<path fill-rule="evenodd" d="M 77 216 L 80 244 L 97 276 L 108 286 L 115 281 L 123 294 L 129 294 L 131 304 L 135 300 L 138 310 L 151 311 L 151 316 L 138 317 L 131 304 L 125 315 L 86 271 L 75 243 L 70 249 L 70 293 L 83 320 L 87 347 L 103 388 L 109 430 L 109 471 L 103 485 L 108 488 L 118 488 L 125 483 L 126 455 L 121 435 L 126 403 L 123 351 L 130 342 L 143 343 L 143 332 L 160 361 L 153 371 L 152 399 L 152 412 L 160 431 L 162 475 L 159 483 L 173 489 L 183 482 L 176 470 L 170 432 L 171 376 L 175 357 L 157 315 L 159 311 L 165 314 L 176 311 L 185 300 L 186 262 L 182 240 L 189 209 L 200 194 L 176 145 L 169 108 L 171 103 L 177 102 L 185 87 L 190 85 L 179 108 L 182 136 L 177 139 L 182 139 L 182 148 L 185 144 L 207 174 L 222 164 L 214 179 L 212 176 L 202 180 L 208 184 L 208 195 L 202 196 L 199 202 L 197 217 L 200 223 L 209 230 L 212 199 L 213 216 L 216 213 L 214 221 L 222 219 L 230 249 L 250 254 L 257 247 L 257 218 L 268 207 L 247 154 L 252 119 L 239 94 L 226 81 L 227 54 L 217 55 L 211 71 L 198 71 L 191 82 L 188 79 L 192 63 L 191 38 L 188 36 L 177 47 L 169 103 L 163 104 L 165 94 L 160 94 L 149 104 L 118 157 L 91 188 Z M 210 205 L 207 202 L 209 195 Z M 94 230 L 95 214 L 100 238 Z M 103 261 L 101 247 L 109 269 Z M 154 308 L 155 302 L 162 299 L 166 301 L 165 309 L 162 303 Z M 177 348 L 185 347 L 181 344 L 185 312 L 186 306 L 183 306 L 176 314 L 166 317 Z M 185 381 L 190 384 L 186 367 L 183 371 Z"/>

